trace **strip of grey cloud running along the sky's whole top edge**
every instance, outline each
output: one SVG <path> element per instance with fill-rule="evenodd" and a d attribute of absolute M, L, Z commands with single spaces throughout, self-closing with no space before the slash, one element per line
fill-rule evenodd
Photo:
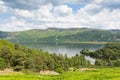
<path fill-rule="evenodd" d="M 103 8 L 109 9 L 119 9 L 120 8 L 120 0 L 2 0 L 5 4 L 11 8 L 19 8 L 19 9 L 37 9 L 41 5 L 46 5 L 51 3 L 52 5 L 60 5 L 60 4 L 78 4 L 85 3 L 90 4 L 94 3 L 97 5 L 101 5 Z"/>

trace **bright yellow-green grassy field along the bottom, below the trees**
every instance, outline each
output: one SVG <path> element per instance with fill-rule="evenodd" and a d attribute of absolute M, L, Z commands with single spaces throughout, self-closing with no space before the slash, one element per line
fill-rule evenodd
<path fill-rule="evenodd" d="M 57 76 L 38 74 L 0 75 L 0 80 L 120 80 L 120 68 L 66 72 Z"/>

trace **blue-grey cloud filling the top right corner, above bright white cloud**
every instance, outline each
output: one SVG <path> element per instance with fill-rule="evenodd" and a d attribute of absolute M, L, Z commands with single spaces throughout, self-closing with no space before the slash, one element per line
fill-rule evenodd
<path fill-rule="evenodd" d="M 90 8 L 91 6 L 89 6 L 87 7 L 88 9 L 85 9 L 86 12 L 88 12 L 91 15 L 94 15 L 101 12 L 104 9 L 108 9 L 109 11 L 120 9 L 120 0 L 93 0 L 88 5 L 96 5 L 92 8 Z"/>

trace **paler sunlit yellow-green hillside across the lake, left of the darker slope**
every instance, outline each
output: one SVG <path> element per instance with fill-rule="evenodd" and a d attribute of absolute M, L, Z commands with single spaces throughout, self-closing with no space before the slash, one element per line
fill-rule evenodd
<path fill-rule="evenodd" d="M 22 32 L 11 33 L 12 41 L 20 42 L 43 42 L 48 41 L 49 38 L 53 38 L 52 42 L 56 40 L 56 37 L 64 37 L 68 35 L 77 34 L 79 32 L 90 31 L 92 29 L 56 29 L 50 28 L 46 30 L 29 30 Z M 44 40 L 45 39 L 45 40 Z"/>

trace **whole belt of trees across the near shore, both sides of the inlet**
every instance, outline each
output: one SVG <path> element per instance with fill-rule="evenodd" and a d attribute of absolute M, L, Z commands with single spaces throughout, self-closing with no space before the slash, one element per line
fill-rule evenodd
<path fill-rule="evenodd" d="M 83 49 L 80 54 L 68 57 L 67 54 L 44 52 L 13 44 L 7 40 L 0 40 L 1 70 L 5 68 L 12 68 L 15 71 L 30 70 L 34 72 L 54 70 L 62 73 L 68 71 L 69 68 L 90 67 L 90 62 L 85 59 L 86 55 L 96 59 L 94 66 L 120 66 L 120 43 L 108 43 L 103 48 L 95 51 Z"/>

